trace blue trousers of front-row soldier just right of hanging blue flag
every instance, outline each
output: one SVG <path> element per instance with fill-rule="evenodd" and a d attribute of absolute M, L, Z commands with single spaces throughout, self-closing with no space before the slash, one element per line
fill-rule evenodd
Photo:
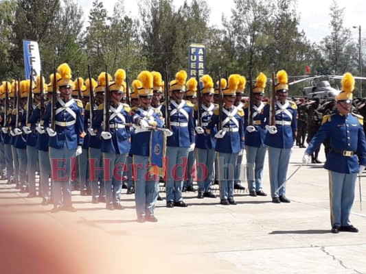
<path fill-rule="evenodd" d="M 167 147 L 168 181 L 165 185 L 166 201 L 182 201 L 182 186 L 187 170 L 188 147 Z M 184 162 L 183 162 L 184 161 Z"/>

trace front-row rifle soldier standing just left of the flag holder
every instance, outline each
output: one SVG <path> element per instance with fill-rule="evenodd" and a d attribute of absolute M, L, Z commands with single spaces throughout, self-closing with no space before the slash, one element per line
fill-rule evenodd
<path fill-rule="evenodd" d="M 109 176 L 104 173 L 106 188 L 106 209 L 123 210 L 121 205 L 122 173 L 125 170 L 126 155 L 130 151 L 130 106 L 120 103 L 124 95 L 124 79 L 126 72 L 118 69 L 115 82 L 109 85 L 110 103 L 105 111 L 109 111 L 109 121 L 104 121 L 104 103 L 100 104 L 95 113 L 93 129 L 98 138 L 102 138 L 101 151 L 103 153 L 104 169 L 109 167 Z M 108 92 L 108 91 L 106 91 Z M 110 132 L 102 129 L 102 123 L 109 123 Z"/>

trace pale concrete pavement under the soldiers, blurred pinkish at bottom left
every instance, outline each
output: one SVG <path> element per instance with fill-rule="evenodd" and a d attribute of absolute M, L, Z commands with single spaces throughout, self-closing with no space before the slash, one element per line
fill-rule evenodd
<path fill-rule="evenodd" d="M 303 153 L 294 148 L 288 175 Z M 185 192 L 188 208 L 158 201 L 158 223 L 135 221 L 134 197 L 126 190 L 122 211 L 73 192 L 78 212 L 51 214 L 41 198 L 28 199 L 0 183 L 0 264 L 6 273 L 366 273 L 366 204 L 361 211 L 358 184 L 351 221 L 360 232 L 331 234 L 322 164 L 303 166 L 290 179 L 289 204 L 239 192 L 237 206 L 220 206 L 219 198 Z M 270 192 L 267 160 L 264 191 Z"/>

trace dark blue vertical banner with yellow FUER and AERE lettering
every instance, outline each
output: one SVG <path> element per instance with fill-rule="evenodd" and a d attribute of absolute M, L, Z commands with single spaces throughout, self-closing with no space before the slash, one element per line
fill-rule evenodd
<path fill-rule="evenodd" d="M 188 79 L 201 78 L 206 74 L 205 72 L 205 46 L 201 44 L 191 44 L 188 53 Z"/>

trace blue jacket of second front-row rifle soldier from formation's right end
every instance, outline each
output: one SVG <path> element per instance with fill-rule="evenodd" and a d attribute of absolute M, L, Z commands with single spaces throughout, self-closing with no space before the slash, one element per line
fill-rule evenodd
<path fill-rule="evenodd" d="M 239 153 L 244 147 L 244 111 L 236 107 L 231 108 L 232 119 L 228 119 L 227 108 L 222 108 L 222 129 L 227 130 L 223 138 L 216 139 L 215 151 L 222 153 Z M 207 129 L 214 130 L 218 126 L 220 110 L 216 109 L 211 117 Z M 229 122 L 224 123 L 225 120 Z"/>

